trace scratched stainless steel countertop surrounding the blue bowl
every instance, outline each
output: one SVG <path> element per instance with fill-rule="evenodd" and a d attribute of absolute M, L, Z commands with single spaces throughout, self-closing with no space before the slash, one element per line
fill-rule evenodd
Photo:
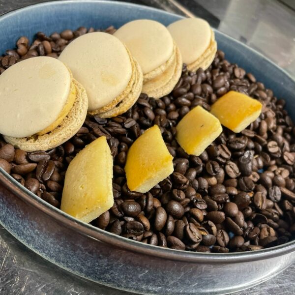
<path fill-rule="evenodd" d="M 40 0 L 0 0 L 0 14 Z M 129 0 L 203 17 L 265 54 L 295 77 L 295 11 L 281 0 Z M 291 4 L 295 1 L 291 1 Z M 188 10 L 188 11 L 187 11 Z M 275 38 L 274 38 L 275 36 Z M 115 279 L 115 278 L 114 278 Z M 84 280 L 22 245 L 0 226 L 0 295 L 128 295 Z M 164 291 L 163 291 L 164 294 Z M 237 295 L 295 294 L 295 265 Z"/>

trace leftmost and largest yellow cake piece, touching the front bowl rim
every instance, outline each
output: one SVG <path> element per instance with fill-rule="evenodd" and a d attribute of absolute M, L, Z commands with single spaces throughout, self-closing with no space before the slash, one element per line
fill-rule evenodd
<path fill-rule="evenodd" d="M 114 204 L 113 157 L 106 137 L 82 149 L 71 161 L 64 179 L 61 210 L 86 223 Z"/>

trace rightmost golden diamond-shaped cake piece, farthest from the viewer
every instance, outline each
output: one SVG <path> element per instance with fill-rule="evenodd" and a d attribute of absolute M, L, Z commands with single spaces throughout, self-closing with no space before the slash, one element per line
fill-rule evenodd
<path fill-rule="evenodd" d="M 221 124 L 238 133 L 254 122 L 261 114 L 262 104 L 248 95 L 229 91 L 211 107 L 211 114 Z"/>

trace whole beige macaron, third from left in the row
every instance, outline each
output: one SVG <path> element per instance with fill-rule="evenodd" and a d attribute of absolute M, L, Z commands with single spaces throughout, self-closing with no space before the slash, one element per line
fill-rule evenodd
<path fill-rule="evenodd" d="M 139 62 L 143 74 L 142 92 L 160 98 L 169 94 L 182 71 L 181 54 L 170 32 L 152 20 L 131 21 L 115 33 Z"/>

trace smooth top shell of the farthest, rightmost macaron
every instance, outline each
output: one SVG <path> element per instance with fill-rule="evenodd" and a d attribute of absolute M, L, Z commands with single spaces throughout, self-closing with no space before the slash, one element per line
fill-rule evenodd
<path fill-rule="evenodd" d="M 172 23 L 167 28 L 186 64 L 197 60 L 210 44 L 211 29 L 207 21 L 203 19 L 186 18 Z"/>

